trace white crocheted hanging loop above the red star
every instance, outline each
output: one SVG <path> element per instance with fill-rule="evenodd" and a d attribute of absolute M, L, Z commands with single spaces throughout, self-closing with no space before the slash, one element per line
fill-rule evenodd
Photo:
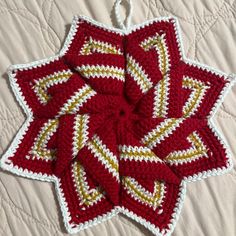
<path fill-rule="evenodd" d="M 120 9 L 119 8 L 120 8 L 120 5 L 122 3 L 122 0 L 116 0 L 115 6 L 114 6 L 116 21 L 118 23 L 118 26 L 123 30 L 130 28 L 131 15 L 132 15 L 132 12 L 133 12 L 132 0 L 127 0 L 127 2 L 128 2 L 128 5 L 129 5 L 129 9 L 128 9 L 128 16 L 127 16 L 127 19 L 126 19 L 126 25 L 121 20 L 121 16 L 120 16 Z"/>

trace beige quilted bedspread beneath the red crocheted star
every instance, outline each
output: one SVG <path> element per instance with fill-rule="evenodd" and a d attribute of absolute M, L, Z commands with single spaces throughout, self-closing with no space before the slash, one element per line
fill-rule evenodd
<path fill-rule="evenodd" d="M 187 57 L 236 73 L 236 2 L 234 0 L 133 0 L 132 24 L 157 16 L 177 16 Z M 0 154 L 25 117 L 10 90 L 10 64 L 54 55 L 73 15 L 112 25 L 113 0 L 0 0 Z M 236 155 L 236 86 L 215 116 Z M 0 171 L 0 235 L 66 235 L 52 184 Z M 89 228 L 80 236 L 152 235 L 123 217 Z M 174 236 L 236 235 L 236 169 L 188 184 Z"/>

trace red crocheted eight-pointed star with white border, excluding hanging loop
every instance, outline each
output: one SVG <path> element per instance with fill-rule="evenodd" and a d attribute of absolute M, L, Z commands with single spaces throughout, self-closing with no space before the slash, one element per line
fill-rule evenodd
<path fill-rule="evenodd" d="M 212 117 L 232 80 L 186 59 L 178 27 L 75 17 L 58 55 L 9 70 L 27 120 L 1 166 L 53 181 L 68 232 L 121 212 L 169 235 L 185 183 L 231 167 Z"/>

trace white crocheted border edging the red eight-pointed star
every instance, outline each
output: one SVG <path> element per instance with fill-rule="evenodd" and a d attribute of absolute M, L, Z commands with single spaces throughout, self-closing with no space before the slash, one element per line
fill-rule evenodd
<path fill-rule="evenodd" d="M 140 216 L 137 216 L 135 213 L 129 211 L 128 209 L 125 209 L 124 207 L 115 207 L 113 210 L 111 210 L 107 214 L 104 214 L 102 216 L 98 216 L 97 218 L 95 218 L 93 220 L 87 221 L 87 222 L 85 222 L 83 224 L 80 224 L 80 225 L 76 225 L 76 227 L 74 227 L 74 225 L 71 225 L 69 223 L 71 217 L 70 217 L 70 213 L 68 211 L 67 203 L 66 203 L 65 198 L 63 196 L 63 192 L 61 191 L 61 188 L 60 188 L 60 180 L 58 178 L 56 178 L 55 176 L 48 176 L 48 175 L 42 174 L 42 173 L 33 173 L 32 171 L 28 171 L 27 169 L 22 169 L 21 167 L 13 166 L 13 164 L 9 160 L 9 157 L 13 156 L 14 153 L 16 152 L 18 146 L 21 143 L 21 140 L 22 140 L 23 136 L 28 131 L 28 127 L 30 125 L 30 122 L 33 120 L 32 111 L 31 111 L 30 107 L 28 106 L 28 104 L 26 103 L 25 98 L 24 98 L 24 96 L 23 96 L 23 94 L 20 90 L 20 87 L 18 86 L 18 84 L 16 82 L 16 78 L 15 78 L 16 71 L 17 70 L 27 70 L 27 69 L 31 69 L 31 68 L 36 68 L 36 67 L 51 63 L 55 60 L 58 60 L 61 56 L 65 55 L 66 52 L 68 51 L 69 47 L 70 47 L 70 44 L 73 41 L 73 38 L 74 38 L 74 36 L 77 32 L 77 29 L 79 27 L 79 23 L 81 21 L 87 21 L 92 25 L 95 25 L 95 26 L 100 27 L 100 28 L 102 28 L 104 30 L 107 30 L 107 31 L 115 32 L 115 33 L 120 34 L 120 35 L 129 34 L 129 33 L 133 32 L 135 30 L 143 28 L 143 27 L 145 27 L 147 25 L 150 25 L 154 22 L 171 21 L 172 23 L 174 23 L 174 26 L 175 26 L 177 41 L 178 41 L 178 45 L 179 45 L 179 51 L 181 53 L 182 60 L 184 60 L 188 64 L 200 67 L 200 68 L 202 68 L 206 71 L 209 71 L 213 74 L 223 76 L 225 80 L 229 81 L 227 86 L 225 86 L 224 90 L 222 91 L 218 101 L 216 102 L 216 104 L 213 107 L 213 109 L 211 111 L 211 114 L 209 116 L 209 126 L 211 127 L 212 131 L 215 133 L 215 135 L 218 137 L 220 142 L 224 145 L 224 147 L 227 150 L 228 165 L 225 168 L 218 168 L 218 169 L 214 169 L 214 170 L 211 170 L 211 171 L 204 171 L 204 172 L 199 173 L 197 175 L 186 177 L 185 180 L 183 180 L 182 183 L 181 183 L 179 198 L 178 198 L 176 206 L 174 208 L 174 212 L 172 214 L 171 222 L 168 225 L 168 228 L 164 229 L 162 231 L 160 231 L 160 229 L 155 227 L 150 222 L 147 222 L 145 219 L 141 218 Z M 15 138 L 12 141 L 12 143 L 11 143 L 10 147 L 8 148 L 8 150 L 2 156 L 2 158 L 0 160 L 0 166 L 1 166 L 1 168 L 5 169 L 5 170 L 8 170 L 8 171 L 10 171 L 12 173 L 15 173 L 17 175 L 20 175 L 20 176 L 24 176 L 24 177 L 28 177 L 28 178 L 36 179 L 36 180 L 41 180 L 41 181 L 54 182 L 55 187 L 56 187 L 57 196 L 58 196 L 58 199 L 59 199 L 59 204 L 60 204 L 62 215 L 63 215 L 64 224 L 65 224 L 65 227 L 66 227 L 66 229 L 69 233 L 76 233 L 76 232 L 78 232 L 82 229 L 86 229 L 88 227 L 91 227 L 93 225 L 101 223 L 101 222 L 103 222 L 107 219 L 110 219 L 111 217 L 117 215 L 118 213 L 123 213 L 123 214 L 127 215 L 128 217 L 132 218 L 133 220 L 139 222 L 144 227 L 148 228 L 155 235 L 158 235 L 158 236 L 170 235 L 174 230 L 174 227 L 175 227 L 176 222 L 179 218 L 179 214 L 180 214 L 183 202 L 184 202 L 184 197 L 185 197 L 185 194 L 186 194 L 186 187 L 185 187 L 186 182 L 199 180 L 199 179 L 202 179 L 202 178 L 206 178 L 208 176 L 220 175 L 220 174 L 223 174 L 223 173 L 227 172 L 228 170 L 230 170 L 232 168 L 232 161 L 231 161 L 231 158 L 230 158 L 231 153 L 229 151 L 230 149 L 229 149 L 229 147 L 227 147 L 223 135 L 216 129 L 215 124 L 213 122 L 213 117 L 214 117 L 214 114 L 216 113 L 216 111 L 218 110 L 220 104 L 222 103 L 224 96 L 227 94 L 227 92 L 230 90 L 230 87 L 235 82 L 235 78 L 231 78 L 227 74 L 225 74 L 225 73 L 223 73 L 219 70 L 216 70 L 212 67 L 209 67 L 209 66 L 200 64 L 196 61 L 192 61 L 192 60 L 187 59 L 184 55 L 183 43 L 182 42 L 183 41 L 181 39 L 180 26 L 179 26 L 178 20 L 175 17 L 154 18 L 154 19 L 146 21 L 142 24 L 132 26 L 129 29 L 120 30 L 120 29 L 116 29 L 116 28 L 104 25 L 102 23 L 99 23 L 99 22 L 97 22 L 97 21 L 95 21 L 95 20 L 93 20 L 89 17 L 86 17 L 86 16 L 75 16 L 74 19 L 73 19 L 69 34 L 67 35 L 67 38 L 65 40 L 64 46 L 62 47 L 62 49 L 60 50 L 60 52 L 57 55 L 46 58 L 46 59 L 34 61 L 34 62 L 31 62 L 31 63 L 17 64 L 17 65 L 12 65 L 12 66 L 9 67 L 8 75 L 9 75 L 9 79 L 10 79 L 11 88 L 12 88 L 12 90 L 13 90 L 15 96 L 16 96 L 17 101 L 19 102 L 19 104 L 23 108 L 24 112 L 26 113 L 27 119 L 24 122 L 24 124 L 22 125 L 22 127 L 20 128 L 20 130 L 18 131 L 17 135 L 15 136 Z"/>

